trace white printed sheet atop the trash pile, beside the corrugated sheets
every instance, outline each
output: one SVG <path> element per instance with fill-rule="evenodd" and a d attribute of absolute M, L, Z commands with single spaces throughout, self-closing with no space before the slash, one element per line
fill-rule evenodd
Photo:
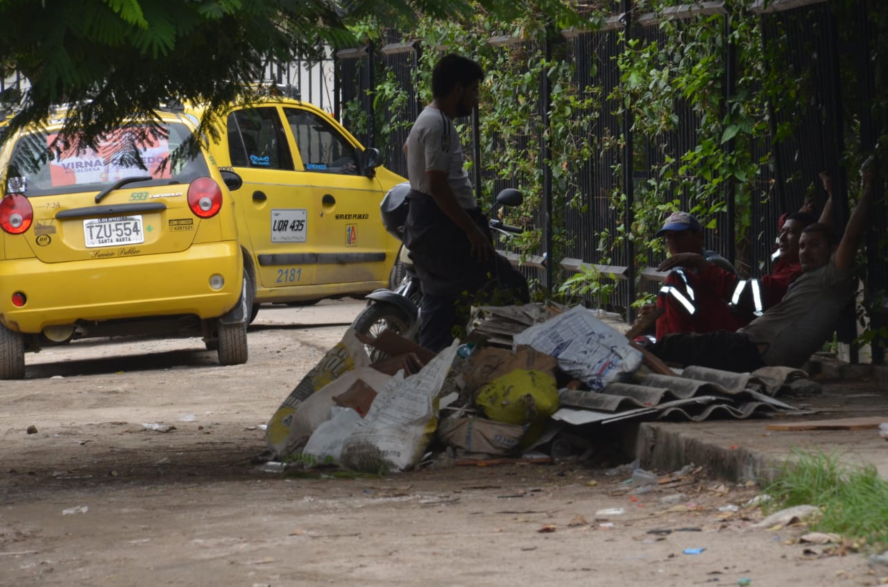
<path fill-rule="evenodd" d="M 642 354 L 622 333 L 575 306 L 515 336 L 512 348 L 526 344 L 554 356 L 559 367 L 591 389 L 600 391 L 638 371 Z"/>

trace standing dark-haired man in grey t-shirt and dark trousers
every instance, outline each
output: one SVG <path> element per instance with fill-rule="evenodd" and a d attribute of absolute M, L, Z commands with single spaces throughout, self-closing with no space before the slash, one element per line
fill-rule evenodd
<path fill-rule="evenodd" d="M 484 71 L 450 53 L 432 70 L 432 103 L 419 113 L 404 151 L 410 181 L 404 245 L 423 287 L 419 344 L 433 352 L 453 341 L 457 309 L 496 292 L 527 303 L 527 280 L 497 254 L 488 218 L 464 169 L 453 119 L 478 106 Z M 501 301 L 502 302 L 502 301 Z"/>

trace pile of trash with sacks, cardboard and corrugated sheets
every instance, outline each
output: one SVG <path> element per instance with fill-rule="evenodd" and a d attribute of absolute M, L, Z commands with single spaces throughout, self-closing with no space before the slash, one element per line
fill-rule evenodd
<path fill-rule="evenodd" d="M 369 348 L 386 358 L 371 364 Z M 437 355 L 391 331 L 374 339 L 350 328 L 281 403 L 266 440 L 279 461 L 403 471 L 436 450 L 527 455 L 565 427 L 795 411 L 774 395 L 806 378 L 782 368 L 675 372 L 583 306 L 478 308 L 466 341 Z"/>

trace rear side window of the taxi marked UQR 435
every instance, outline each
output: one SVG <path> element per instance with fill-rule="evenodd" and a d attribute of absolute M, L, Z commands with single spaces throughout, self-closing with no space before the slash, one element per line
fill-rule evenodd
<path fill-rule="evenodd" d="M 228 115 L 228 154 L 237 167 L 293 169 L 287 136 L 275 108 L 244 108 Z"/>

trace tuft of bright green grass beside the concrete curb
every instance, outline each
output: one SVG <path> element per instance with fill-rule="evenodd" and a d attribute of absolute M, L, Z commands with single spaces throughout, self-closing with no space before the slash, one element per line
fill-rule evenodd
<path fill-rule="evenodd" d="M 876 467 L 848 466 L 834 455 L 794 450 L 792 459 L 765 487 L 769 512 L 815 505 L 823 513 L 811 522 L 819 532 L 844 536 L 871 549 L 888 547 L 888 481 Z"/>

